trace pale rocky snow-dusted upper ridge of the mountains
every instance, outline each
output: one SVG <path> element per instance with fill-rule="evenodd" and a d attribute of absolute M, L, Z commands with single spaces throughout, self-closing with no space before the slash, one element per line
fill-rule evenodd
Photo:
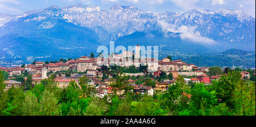
<path fill-rule="evenodd" d="M 36 15 L 28 15 L 25 22 L 51 18 L 65 19 L 93 29 L 100 40 L 104 38 L 105 41 L 116 40 L 136 31 L 159 30 L 159 21 L 176 27 L 193 27 L 200 36 L 216 41 L 234 42 L 255 38 L 255 18 L 243 10 L 195 9 L 180 13 L 151 13 L 134 6 L 115 4 L 108 10 L 100 10 L 98 6 L 79 3 L 62 9 L 57 6 L 48 7 Z"/>

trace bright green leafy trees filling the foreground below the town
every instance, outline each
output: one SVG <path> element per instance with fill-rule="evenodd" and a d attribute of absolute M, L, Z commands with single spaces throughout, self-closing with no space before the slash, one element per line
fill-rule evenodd
<path fill-rule="evenodd" d="M 167 91 L 154 96 L 135 95 L 127 80 L 115 77 L 113 92 L 125 90 L 125 94 L 112 94 L 100 99 L 88 78 L 80 78 L 80 86 L 69 83 L 60 89 L 53 75 L 32 85 L 28 78 L 22 87 L 5 91 L 4 75 L 0 71 L 1 116 L 241 116 L 255 115 L 255 82 L 241 79 L 238 71 L 225 72 L 212 85 L 186 84 L 183 78 Z"/>

